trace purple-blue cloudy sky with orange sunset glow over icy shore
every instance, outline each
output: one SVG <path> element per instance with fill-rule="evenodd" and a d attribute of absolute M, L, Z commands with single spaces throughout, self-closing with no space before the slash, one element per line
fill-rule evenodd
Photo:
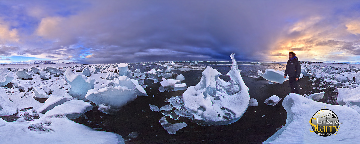
<path fill-rule="evenodd" d="M 360 0 L 0 0 L 0 63 L 360 62 Z"/>

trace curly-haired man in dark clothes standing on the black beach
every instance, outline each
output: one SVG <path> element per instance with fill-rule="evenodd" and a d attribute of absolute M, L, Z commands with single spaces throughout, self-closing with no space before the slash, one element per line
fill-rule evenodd
<path fill-rule="evenodd" d="M 301 64 L 293 51 L 289 52 L 289 61 L 286 64 L 285 76 L 289 76 L 291 93 L 299 94 L 298 80 L 301 74 Z"/>

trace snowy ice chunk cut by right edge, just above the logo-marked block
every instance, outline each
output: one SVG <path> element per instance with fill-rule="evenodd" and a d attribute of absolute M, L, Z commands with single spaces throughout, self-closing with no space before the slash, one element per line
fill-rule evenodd
<path fill-rule="evenodd" d="M 351 107 L 360 113 L 360 87 L 350 89 L 342 87 L 337 89 L 338 96 L 336 103 L 339 105 Z"/>

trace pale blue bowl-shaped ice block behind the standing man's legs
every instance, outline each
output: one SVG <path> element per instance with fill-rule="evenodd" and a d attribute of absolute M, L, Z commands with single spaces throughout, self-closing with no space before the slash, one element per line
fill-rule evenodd
<path fill-rule="evenodd" d="M 284 78 L 285 73 L 283 71 L 275 71 L 275 69 L 265 69 L 264 73 L 262 73 L 262 71 L 258 70 L 257 74 L 259 76 L 265 78 L 268 81 L 276 82 L 276 83 L 280 83 L 280 84 L 283 84 L 284 81 L 289 80 L 288 76 L 286 76 L 286 78 Z M 302 77 L 303 77 L 303 75 L 301 73 L 299 78 L 302 78 Z"/>

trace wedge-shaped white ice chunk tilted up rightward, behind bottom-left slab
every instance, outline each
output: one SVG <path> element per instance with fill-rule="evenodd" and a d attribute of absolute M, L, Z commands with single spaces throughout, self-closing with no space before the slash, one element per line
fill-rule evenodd
<path fill-rule="evenodd" d="M 53 109 L 55 106 L 64 104 L 64 102 L 67 102 L 67 97 L 64 96 L 58 96 L 58 95 L 51 95 L 49 96 L 48 100 L 44 102 L 44 105 L 38 109 L 38 112 L 41 112 L 45 114 L 49 110 Z"/>

